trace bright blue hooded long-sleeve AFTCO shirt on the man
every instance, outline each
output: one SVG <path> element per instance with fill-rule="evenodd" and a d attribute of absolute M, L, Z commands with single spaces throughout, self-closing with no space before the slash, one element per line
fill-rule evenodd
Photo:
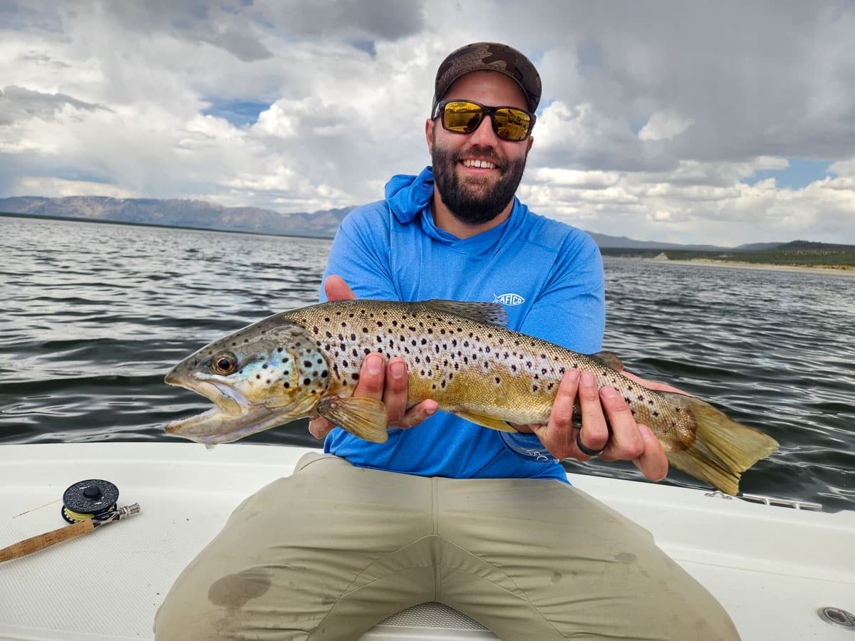
<path fill-rule="evenodd" d="M 533 214 L 515 198 L 507 221 L 457 238 L 433 224 L 432 195 L 431 168 L 394 176 L 385 200 L 342 221 L 324 279 L 338 274 L 359 298 L 498 301 L 516 332 L 583 353 L 601 349 L 603 265 L 590 236 Z M 324 449 L 358 467 L 392 472 L 566 481 L 533 434 L 498 432 L 444 412 L 390 430 L 382 444 L 336 428 Z"/>

